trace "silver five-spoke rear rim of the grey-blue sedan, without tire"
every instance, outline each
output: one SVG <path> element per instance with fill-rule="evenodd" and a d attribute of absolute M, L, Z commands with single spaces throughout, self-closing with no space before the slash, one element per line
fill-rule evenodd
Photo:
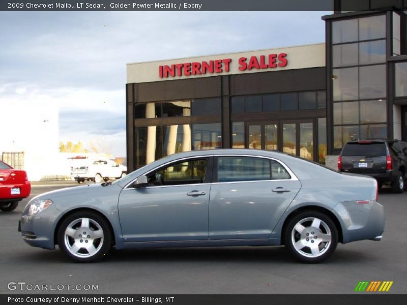
<path fill-rule="evenodd" d="M 300 220 L 291 232 L 295 250 L 306 257 L 318 257 L 328 251 L 332 235 L 328 225 L 321 219 L 309 217 Z"/>

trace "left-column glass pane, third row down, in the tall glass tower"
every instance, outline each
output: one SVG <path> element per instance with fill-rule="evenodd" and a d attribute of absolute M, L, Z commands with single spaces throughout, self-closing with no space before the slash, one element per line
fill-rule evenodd
<path fill-rule="evenodd" d="M 334 101 L 358 100 L 358 68 L 333 69 L 333 98 Z"/>

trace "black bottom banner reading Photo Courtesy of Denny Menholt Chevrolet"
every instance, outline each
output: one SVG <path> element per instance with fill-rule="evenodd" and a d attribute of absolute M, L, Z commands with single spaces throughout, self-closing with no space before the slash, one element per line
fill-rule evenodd
<path fill-rule="evenodd" d="M 143 305 L 287 305 L 287 304 L 329 304 L 351 305 L 366 303 L 369 305 L 383 305 L 384 303 L 398 305 L 407 304 L 406 295 L 387 295 L 382 293 L 371 294 L 345 294 L 345 295 L 315 295 L 315 294 L 291 294 L 291 295 L 1 295 L 2 305 L 19 304 L 65 304 L 65 305 L 96 305 L 96 304 L 143 304 Z"/>

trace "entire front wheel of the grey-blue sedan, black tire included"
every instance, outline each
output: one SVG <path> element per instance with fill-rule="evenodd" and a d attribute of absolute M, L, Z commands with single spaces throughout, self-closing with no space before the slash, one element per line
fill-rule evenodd
<path fill-rule="evenodd" d="M 82 219 L 89 219 L 89 226 L 87 228 L 90 232 L 86 232 L 88 230 L 86 227 L 81 227 L 83 224 Z M 75 229 L 75 226 L 77 226 L 77 229 Z M 65 234 L 68 227 L 73 228 L 75 237 Z M 102 232 L 99 232 L 99 230 L 102 230 Z M 86 235 L 82 235 L 84 232 L 86 232 Z M 92 238 L 96 235 L 95 232 L 103 233 L 102 237 Z M 86 240 L 90 242 L 88 243 Z M 112 234 L 108 222 L 102 216 L 92 211 L 77 211 L 69 215 L 63 220 L 57 231 L 57 241 L 61 251 L 78 263 L 96 262 L 106 257 L 111 247 L 111 240 Z M 83 247 L 80 247 L 82 245 Z M 85 247 L 94 247 L 95 253 L 92 254 Z M 75 249 L 78 249 L 78 251 L 75 251 Z"/>

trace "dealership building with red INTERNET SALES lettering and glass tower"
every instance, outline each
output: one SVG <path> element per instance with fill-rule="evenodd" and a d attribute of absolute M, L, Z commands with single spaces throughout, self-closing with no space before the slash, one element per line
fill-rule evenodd
<path fill-rule="evenodd" d="M 407 4 L 390 2 L 335 1 L 322 44 L 128 64 L 129 170 L 213 148 L 334 167 L 349 140 L 407 140 Z"/>

